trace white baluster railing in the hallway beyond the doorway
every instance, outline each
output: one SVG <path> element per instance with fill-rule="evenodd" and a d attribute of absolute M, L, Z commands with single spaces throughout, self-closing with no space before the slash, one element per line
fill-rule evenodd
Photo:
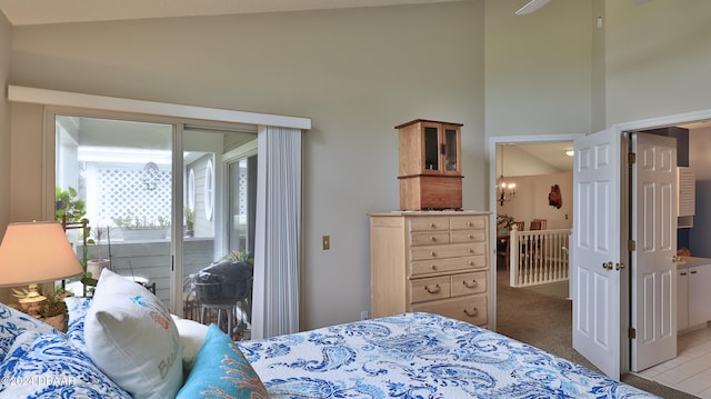
<path fill-rule="evenodd" d="M 568 280 L 568 239 L 570 229 L 511 230 L 509 283 L 537 286 Z"/>

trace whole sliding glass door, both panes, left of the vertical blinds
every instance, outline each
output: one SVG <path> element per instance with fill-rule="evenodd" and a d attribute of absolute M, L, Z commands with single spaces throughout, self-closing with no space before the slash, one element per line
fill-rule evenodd
<path fill-rule="evenodd" d="M 226 156 L 246 146 L 256 153 L 256 128 L 76 114 L 54 121 L 56 186 L 83 201 L 96 242 L 87 246 L 89 259 L 108 259 L 107 267 L 144 283 L 171 311 L 199 319 L 191 276 L 230 250 L 246 250 L 232 243 L 236 226 L 241 237 L 253 237 L 253 221 L 240 225 L 246 212 L 236 213 L 230 197 L 254 181 L 234 180 Z M 256 164 L 251 172 L 248 179 Z M 81 231 L 69 233 L 81 258 Z M 68 287 L 82 292 L 80 281 Z"/>

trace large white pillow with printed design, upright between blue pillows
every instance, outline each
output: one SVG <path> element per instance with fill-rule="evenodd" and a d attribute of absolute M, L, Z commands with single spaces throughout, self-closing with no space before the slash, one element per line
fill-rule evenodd
<path fill-rule="evenodd" d="M 133 398 L 174 398 L 182 385 L 178 328 L 143 286 L 104 269 L 84 320 L 91 359 Z"/>

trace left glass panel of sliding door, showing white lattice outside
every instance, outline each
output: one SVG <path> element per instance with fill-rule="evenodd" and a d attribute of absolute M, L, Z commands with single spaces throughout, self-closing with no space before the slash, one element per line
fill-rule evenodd
<path fill-rule="evenodd" d="M 94 243 L 87 270 L 108 267 L 171 303 L 173 126 L 99 118 L 56 118 L 56 186 L 77 190 Z M 70 239 L 83 258 L 80 230 Z M 106 260 L 100 262 L 99 260 Z M 68 288 L 81 295 L 82 283 Z"/>

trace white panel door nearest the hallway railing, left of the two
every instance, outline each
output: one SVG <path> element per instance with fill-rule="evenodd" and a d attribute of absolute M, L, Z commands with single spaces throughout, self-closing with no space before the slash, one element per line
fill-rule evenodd
<path fill-rule="evenodd" d="M 621 137 L 608 129 L 575 139 L 573 148 L 573 348 L 618 379 Z"/>

